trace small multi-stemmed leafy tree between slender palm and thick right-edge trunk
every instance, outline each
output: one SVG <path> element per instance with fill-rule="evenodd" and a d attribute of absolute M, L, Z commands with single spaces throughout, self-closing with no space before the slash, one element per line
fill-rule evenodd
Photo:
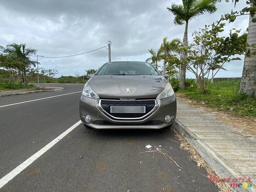
<path fill-rule="evenodd" d="M 181 65 L 196 75 L 202 93 L 206 92 L 206 87 L 211 79 L 220 69 L 223 69 L 224 63 L 241 60 L 234 56 L 245 53 L 247 34 L 239 36 L 240 30 L 232 29 L 228 37 L 218 36 L 224 31 L 224 26 L 225 24 L 221 23 L 210 29 L 210 25 L 205 25 L 205 28 L 195 31 L 193 43 L 188 48 L 181 45 L 181 49 L 188 51 L 188 57 L 183 60 Z M 196 68 L 199 70 L 198 73 Z M 210 78 L 212 69 L 217 69 L 217 71 Z"/>

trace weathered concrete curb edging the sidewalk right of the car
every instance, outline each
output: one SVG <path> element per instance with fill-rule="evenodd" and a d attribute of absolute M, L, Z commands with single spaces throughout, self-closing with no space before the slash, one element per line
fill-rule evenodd
<path fill-rule="evenodd" d="M 220 178 L 232 179 L 244 177 L 239 171 L 228 164 L 223 157 L 217 154 L 212 148 L 204 143 L 199 137 L 191 132 L 178 119 L 174 122 L 175 129 L 195 148 L 197 153 L 204 158 L 205 162 L 220 176 Z M 216 141 L 217 142 L 217 141 Z M 244 177 L 245 178 L 245 177 Z M 230 183 L 227 183 L 230 188 Z M 256 192 L 256 186 L 253 184 L 252 188 L 230 188 L 235 192 Z"/>

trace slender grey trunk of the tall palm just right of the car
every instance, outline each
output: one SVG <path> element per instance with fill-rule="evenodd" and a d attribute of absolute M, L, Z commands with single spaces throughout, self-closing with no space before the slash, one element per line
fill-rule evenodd
<path fill-rule="evenodd" d="M 186 22 L 185 32 L 183 36 L 183 42 L 182 44 L 185 47 L 188 47 L 188 22 Z M 188 57 L 188 52 L 183 52 L 183 59 Z M 179 79 L 180 79 L 180 88 L 186 89 L 185 79 L 186 79 L 186 67 L 183 65 L 180 65 L 180 73 L 179 73 Z"/>

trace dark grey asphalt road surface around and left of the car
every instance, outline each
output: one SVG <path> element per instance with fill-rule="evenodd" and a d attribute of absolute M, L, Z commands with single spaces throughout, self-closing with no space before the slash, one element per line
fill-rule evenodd
<path fill-rule="evenodd" d="M 80 120 L 81 85 L 63 87 L 0 98 L 0 178 Z M 52 98 L 36 100 L 46 97 Z M 20 103 L 29 100 L 36 101 Z M 14 103 L 20 104 L 1 107 Z M 177 140 L 173 135 L 170 128 L 94 130 L 79 124 L 0 191 L 217 192 L 207 172 L 189 161 L 179 143 L 166 139 Z M 169 151 L 183 169 L 163 155 L 139 154 L 147 145 Z"/>

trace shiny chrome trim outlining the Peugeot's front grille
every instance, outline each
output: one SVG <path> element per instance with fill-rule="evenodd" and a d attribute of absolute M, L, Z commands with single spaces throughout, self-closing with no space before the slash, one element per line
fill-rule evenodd
<path fill-rule="evenodd" d="M 115 117 L 115 116 L 112 116 L 111 114 L 109 114 L 107 111 L 105 111 L 102 107 L 101 107 L 101 101 L 102 100 L 107 100 L 107 101 L 127 101 L 127 102 L 134 102 L 134 101 L 138 101 L 138 102 L 140 102 L 140 101 L 155 101 L 155 106 L 154 106 L 154 108 L 151 110 L 151 111 L 149 111 L 147 114 L 145 114 L 144 116 L 141 116 L 141 117 L 136 117 L 136 118 L 119 118 L 119 117 Z M 152 111 L 154 111 L 154 109 L 156 108 L 156 106 L 157 106 L 157 101 L 155 100 L 155 99 L 148 99 L 148 100 L 114 100 L 114 99 L 100 99 L 100 101 L 99 101 L 99 106 L 100 106 L 100 108 L 108 115 L 108 116 L 110 116 L 110 117 L 112 117 L 112 118 L 114 118 L 114 119 L 122 119 L 122 120 L 136 120 L 136 119 L 143 119 L 144 117 L 146 117 L 146 116 L 148 116 L 149 114 L 151 114 L 152 113 Z M 120 105 L 120 106 L 125 106 L 125 105 Z M 131 106 L 131 105 L 128 105 L 128 106 Z M 138 106 L 138 105 L 133 105 L 133 106 Z"/>

